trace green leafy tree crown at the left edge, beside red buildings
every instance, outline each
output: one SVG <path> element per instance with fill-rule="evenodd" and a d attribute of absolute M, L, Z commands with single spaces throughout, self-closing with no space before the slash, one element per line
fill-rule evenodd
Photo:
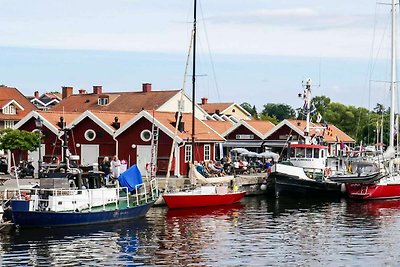
<path fill-rule="evenodd" d="M 40 133 L 14 129 L 0 130 L 0 149 L 34 151 L 40 145 Z"/>

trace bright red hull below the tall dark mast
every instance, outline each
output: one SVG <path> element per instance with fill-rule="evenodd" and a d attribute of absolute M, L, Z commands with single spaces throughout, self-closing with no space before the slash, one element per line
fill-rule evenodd
<path fill-rule="evenodd" d="M 164 194 L 163 198 L 168 208 L 183 209 L 230 205 L 239 202 L 246 192 L 236 192 L 227 194 L 185 194 L 172 193 Z"/>

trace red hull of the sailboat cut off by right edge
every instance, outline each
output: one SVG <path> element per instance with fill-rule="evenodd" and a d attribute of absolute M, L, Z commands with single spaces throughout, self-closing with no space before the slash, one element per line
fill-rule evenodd
<path fill-rule="evenodd" d="M 346 184 L 352 199 L 400 199 L 400 184 Z"/>

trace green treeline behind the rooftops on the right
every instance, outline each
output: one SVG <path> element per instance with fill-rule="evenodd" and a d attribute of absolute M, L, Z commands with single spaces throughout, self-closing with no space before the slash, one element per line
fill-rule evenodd
<path fill-rule="evenodd" d="M 241 106 L 255 119 L 269 120 L 275 124 L 284 119 L 305 120 L 302 107 L 294 109 L 287 104 L 268 103 L 259 112 L 250 103 L 245 102 Z M 381 129 L 383 129 L 383 142 L 385 144 L 388 143 L 390 108 L 385 108 L 382 104 L 378 103 L 373 110 L 368 110 L 331 102 L 331 99 L 326 96 L 316 96 L 311 100 L 311 106 L 314 110 L 316 109 L 312 115 L 313 122 L 317 121 L 318 114 L 320 114 L 320 118 L 322 117 L 321 122 L 334 124 L 354 138 L 357 143 L 362 141 L 363 144 L 375 144 L 377 142 L 377 131 L 379 131 L 380 138 Z"/>

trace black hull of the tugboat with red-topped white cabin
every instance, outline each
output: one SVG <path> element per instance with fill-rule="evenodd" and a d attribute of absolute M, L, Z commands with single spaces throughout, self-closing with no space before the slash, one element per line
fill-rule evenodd
<path fill-rule="evenodd" d="M 267 179 L 267 194 L 279 198 L 286 196 L 340 196 L 342 185 L 334 182 L 322 182 L 301 179 L 284 173 L 271 173 Z"/>

